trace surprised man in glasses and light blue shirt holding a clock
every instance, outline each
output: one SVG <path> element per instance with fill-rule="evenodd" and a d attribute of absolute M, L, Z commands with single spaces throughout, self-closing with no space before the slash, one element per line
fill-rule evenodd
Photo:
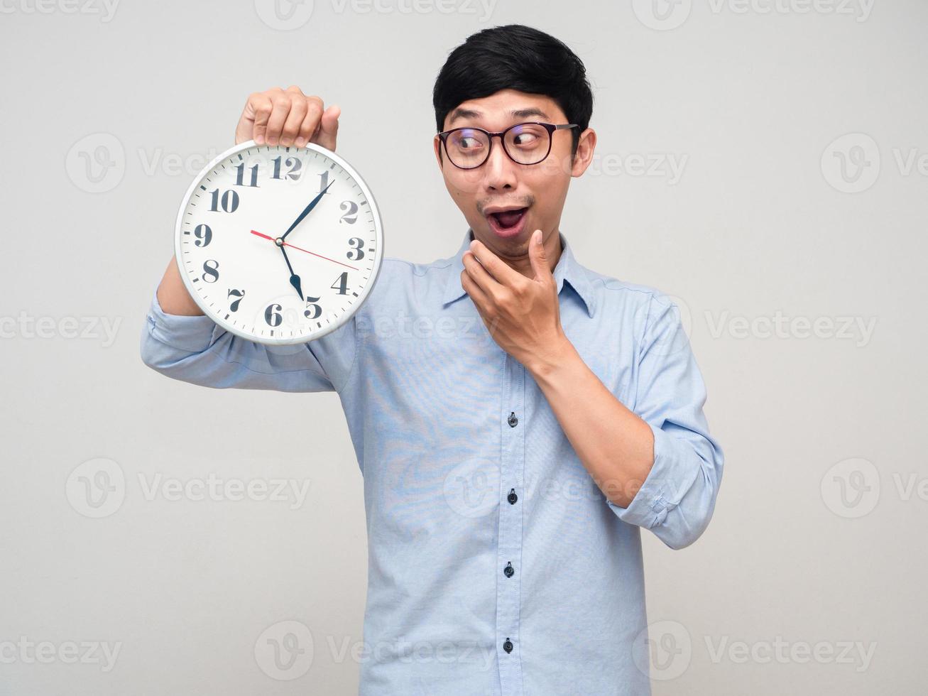
<path fill-rule="evenodd" d="M 700 370 L 673 303 L 579 264 L 560 231 L 596 145 L 566 45 L 478 32 L 433 104 L 469 226 L 454 256 L 384 259 L 352 319 L 298 351 L 219 329 L 172 261 L 143 358 L 210 387 L 341 397 L 367 509 L 362 694 L 647 694 L 639 530 L 691 544 L 722 475 Z M 236 139 L 335 148 L 338 115 L 273 89 Z"/>

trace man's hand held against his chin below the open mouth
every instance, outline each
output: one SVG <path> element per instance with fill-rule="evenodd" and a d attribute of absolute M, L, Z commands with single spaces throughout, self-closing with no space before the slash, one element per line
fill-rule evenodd
<path fill-rule="evenodd" d="M 561 328 L 557 281 L 535 230 L 529 243 L 534 278 L 523 276 L 474 239 L 464 251 L 461 286 L 493 340 L 530 371 L 554 365 L 569 345 Z"/>

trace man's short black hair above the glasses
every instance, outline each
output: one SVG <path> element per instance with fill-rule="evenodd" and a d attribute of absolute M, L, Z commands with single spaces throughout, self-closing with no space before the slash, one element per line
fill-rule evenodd
<path fill-rule="evenodd" d="M 438 132 L 458 104 L 501 89 L 550 97 L 567 116 L 576 152 L 580 134 L 593 114 L 586 68 L 574 51 L 548 33 L 522 24 L 491 27 L 470 34 L 455 48 L 435 79 L 432 106 Z"/>

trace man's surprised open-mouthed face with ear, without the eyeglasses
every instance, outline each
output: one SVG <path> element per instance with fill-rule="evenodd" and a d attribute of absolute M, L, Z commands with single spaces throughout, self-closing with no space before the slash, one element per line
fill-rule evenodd
<path fill-rule="evenodd" d="M 567 117 L 550 97 L 504 89 L 459 104 L 445 116 L 444 130 L 476 126 L 498 132 L 532 121 L 560 124 L 566 123 Z M 489 159 L 470 170 L 458 169 L 448 161 L 435 136 L 435 157 L 448 193 L 464 213 L 474 237 L 500 257 L 526 255 L 535 229 L 540 228 L 546 240 L 558 230 L 571 177 L 586 170 L 595 144 L 595 135 L 587 129 L 572 161 L 572 130 L 576 129 L 551 134 L 548 158 L 531 165 L 509 159 L 500 138 L 493 137 Z"/>

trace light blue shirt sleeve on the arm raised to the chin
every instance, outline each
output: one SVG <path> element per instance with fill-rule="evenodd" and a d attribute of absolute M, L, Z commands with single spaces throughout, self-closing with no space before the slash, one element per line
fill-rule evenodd
<path fill-rule="evenodd" d="M 702 413 L 705 399 L 677 306 L 652 295 L 633 410 L 651 426 L 654 463 L 627 508 L 607 503 L 620 520 L 650 529 L 670 548 L 699 538 L 715 509 L 724 454 Z"/>

